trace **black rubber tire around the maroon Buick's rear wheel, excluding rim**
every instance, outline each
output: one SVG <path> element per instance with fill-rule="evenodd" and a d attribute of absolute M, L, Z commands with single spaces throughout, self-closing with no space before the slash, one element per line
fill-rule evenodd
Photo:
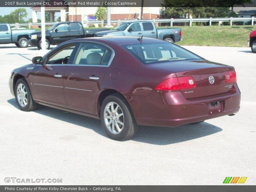
<path fill-rule="evenodd" d="M 123 124 L 121 131 L 116 134 L 114 134 L 108 130 L 108 127 L 106 126 L 105 119 L 104 119 L 104 115 L 105 115 L 104 109 L 110 102 L 115 102 L 116 104 L 118 104 L 123 113 L 123 123 L 124 124 Z M 110 137 L 113 140 L 121 141 L 121 140 L 128 140 L 128 139 L 132 138 L 132 136 L 134 136 L 134 134 L 137 130 L 137 127 L 138 127 L 138 125 L 133 117 L 132 110 L 131 110 L 128 102 L 119 94 L 109 95 L 108 97 L 106 97 L 103 100 L 101 108 L 100 108 L 100 121 L 101 121 L 102 127 L 103 127 L 104 131 L 107 133 L 108 137 Z M 114 127 L 115 127 L 115 125 L 114 125 Z M 116 129 L 116 127 L 114 129 Z"/>

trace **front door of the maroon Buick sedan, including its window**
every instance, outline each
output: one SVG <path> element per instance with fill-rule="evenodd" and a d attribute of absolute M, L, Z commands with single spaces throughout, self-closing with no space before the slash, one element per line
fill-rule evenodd
<path fill-rule="evenodd" d="M 36 65 L 32 77 L 33 97 L 37 101 L 66 108 L 63 75 L 75 45 L 52 52 L 43 65 Z"/>

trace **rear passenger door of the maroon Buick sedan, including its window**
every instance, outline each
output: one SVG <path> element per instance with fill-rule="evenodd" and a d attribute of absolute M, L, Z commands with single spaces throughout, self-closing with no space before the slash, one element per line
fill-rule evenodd
<path fill-rule="evenodd" d="M 108 68 L 112 51 L 102 44 L 82 43 L 68 65 L 63 87 L 67 108 L 96 114 L 95 98 Z"/>

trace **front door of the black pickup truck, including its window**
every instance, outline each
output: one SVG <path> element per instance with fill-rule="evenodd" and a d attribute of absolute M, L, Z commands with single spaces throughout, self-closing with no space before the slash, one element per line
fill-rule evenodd
<path fill-rule="evenodd" d="M 65 41 L 68 41 L 69 38 L 69 31 L 68 31 L 68 24 L 63 23 L 58 25 L 52 31 L 52 44 L 61 44 Z"/>

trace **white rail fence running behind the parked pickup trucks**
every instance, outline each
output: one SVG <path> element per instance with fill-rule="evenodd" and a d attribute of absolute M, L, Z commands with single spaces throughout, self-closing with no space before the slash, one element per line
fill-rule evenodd
<path fill-rule="evenodd" d="M 122 22 L 127 22 L 130 20 L 111 20 L 111 23 L 120 24 Z M 212 25 L 212 22 L 223 22 L 223 21 L 229 21 L 230 25 L 233 24 L 234 21 L 249 21 L 252 25 L 254 25 L 254 17 L 224 17 L 224 18 L 180 18 L 180 19 L 153 19 L 153 21 L 158 23 L 170 23 L 170 26 L 173 26 L 173 23 L 180 23 L 180 22 L 187 22 L 189 23 L 189 26 L 192 26 L 193 22 L 209 22 L 210 25 Z M 54 25 L 56 22 L 49 22 L 45 23 L 45 25 Z M 97 21 L 84 21 L 84 27 L 88 27 L 89 24 L 101 24 L 101 26 L 104 25 L 104 23 L 107 23 L 107 20 L 97 20 Z M 14 23 L 10 24 L 12 27 L 18 27 L 18 26 L 28 26 L 28 28 L 31 28 L 33 25 L 41 25 L 41 23 Z"/>

